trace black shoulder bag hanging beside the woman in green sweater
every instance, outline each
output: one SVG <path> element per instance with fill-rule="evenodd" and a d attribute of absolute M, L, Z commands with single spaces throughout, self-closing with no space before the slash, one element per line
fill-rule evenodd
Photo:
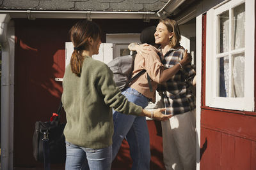
<path fill-rule="evenodd" d="M 51 169 L 52 164 L 65 162 L 66 145 L 63 130 L 65 124 L 60 123 L 62 103 L 57 114 L 53 113 L 51 122 L 37 121 L 33 134 L 33 155 L 36 161 L 44 162 L 45 170 Z"/>

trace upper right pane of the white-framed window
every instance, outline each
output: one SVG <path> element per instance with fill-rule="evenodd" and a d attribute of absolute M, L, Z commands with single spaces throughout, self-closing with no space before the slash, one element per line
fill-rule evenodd
<path fill-rule="evenodd" d="M 245 32 L 245 4 L 241 4 L 233 8 L 232 17 L 233 45 L 232 50 L 244 47 Z"/>

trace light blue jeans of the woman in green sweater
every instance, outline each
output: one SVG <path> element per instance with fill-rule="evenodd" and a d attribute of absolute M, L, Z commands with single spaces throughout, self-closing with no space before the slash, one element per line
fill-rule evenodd
<path fill-rule="evenodd" d="M 112 160 L 112 146 L 108 148 L 92 149 L 83 148 L 66 141 L 67 170 L 110 170 Z"/>

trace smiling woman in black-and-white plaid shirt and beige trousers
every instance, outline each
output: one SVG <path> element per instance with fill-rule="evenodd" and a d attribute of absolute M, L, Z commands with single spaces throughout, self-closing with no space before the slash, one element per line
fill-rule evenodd
<path fill-rule="evenodd" d="M 184 57 L 180 48 L 180 30 L 175 20 L 159 20 L 154 33 L 159 44 L 159 55 L 166 68 L 179 64 Z M 138 53 L 148 53 L 147 45 L 136 47 Z M 189 87 L 195 85 L 195 70 L 188 64 L 182 66 L 170 80 L 159 85 L 162 107 L 173 117 L 162 122 L 163 156 L 166 170 L 196 169 L 195 99 Z"/>

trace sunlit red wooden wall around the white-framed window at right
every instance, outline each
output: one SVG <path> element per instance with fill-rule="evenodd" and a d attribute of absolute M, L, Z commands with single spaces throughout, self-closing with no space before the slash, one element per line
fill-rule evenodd
<path fill-rule="evenodd" d="M 200 169 L 255 170 L 256 113 L 221 110 L 205 106 L 206 17 L 203 15 L 202 25 Z"/>

